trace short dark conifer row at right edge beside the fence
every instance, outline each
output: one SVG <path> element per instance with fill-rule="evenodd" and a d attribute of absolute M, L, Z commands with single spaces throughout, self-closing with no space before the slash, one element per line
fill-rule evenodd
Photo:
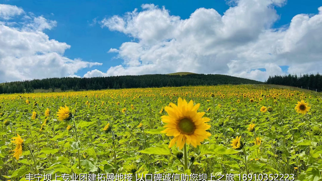
<path fill-rule="evenodd" d="M 276 84 L 284 86 L 295 86 L 295 87 L 310 87 L 313 89 L 319 89 L 322 91 L 322 75 L 320 74 L 303 74 L 297 75 L 284 75 L 284 76 L 273 76 L 269 77 L 266 84 Z"/>

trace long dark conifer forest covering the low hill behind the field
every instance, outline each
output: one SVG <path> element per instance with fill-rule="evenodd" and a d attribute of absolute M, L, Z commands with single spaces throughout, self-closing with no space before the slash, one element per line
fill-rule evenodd
<path fill-rule="evenodd" d="M 0 84 L 0 94 L 30 93 L 34 89 L 55 89 L 62 91 L 73 89 L 78 91 L 119 89 L 119 88 L 145 88 L 164 86 L 198 86 L 198 85 L 222 85 L 222 84 L 260 84 L 262 82 L 232 77 L 219 74 L 188 74 L 188 75 L 141 75 L 141 76 L 111 76 L 111 77 L 62 77 L 24 80 Z"/>

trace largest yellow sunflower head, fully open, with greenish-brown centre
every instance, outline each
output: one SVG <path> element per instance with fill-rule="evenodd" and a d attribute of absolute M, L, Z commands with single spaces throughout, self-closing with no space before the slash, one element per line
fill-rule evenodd
<path fill-rule="evenodd" d="M 168 115 L 161 116 L 162 122 L 166 123 L 163 133 L 167 136 L 174 136 L 169 143 L 171 148 L 175 143 L 179 149 L 182 149 L 185 143 L 194 147 L 201 145 L 201 141 L 207 139 L 211 134 L 207 132 L 210 125 L 210 119 L 204 116 L 204 112 L 197 112 L 200 104 L 194 105 L 191 100 L 189 103 L 184 99 L 178 98 L 178 105 L 169 104 L 164 109 Z"/>

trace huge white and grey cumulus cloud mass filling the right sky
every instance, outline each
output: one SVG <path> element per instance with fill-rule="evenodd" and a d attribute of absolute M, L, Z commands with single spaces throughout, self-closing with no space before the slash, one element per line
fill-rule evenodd
<path fill-rule="evenodd" d="M 273 29 L 276 6 L 285 0 L 233 0 L 223 15 L 196 9 L 189 18 L 171 15 L 166 7 L 144 4 L 123 16 L 103 19 L 102 28 L 134 38 L 117 52 L 122 65 L 91 75 L 140 75 L 189 71 L 227 74 L 264 81 L 270 75 L 317 72 L 322 52 L 322 7 L 318 14 L 298 14 L 288 27 Z M 303 63 L 305 60 L 305 63 Z M 265 71 L 260 69 L 264 68 Z"/>

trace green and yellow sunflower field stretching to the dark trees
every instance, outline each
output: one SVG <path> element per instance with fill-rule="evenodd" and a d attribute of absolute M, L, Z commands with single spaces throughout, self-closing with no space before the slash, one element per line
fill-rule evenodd
<path fill-rule="evenodd" d="M 252 85 L 0 95 L 0 180 L 30 173 L 321 180 L 321 102 L 316 92 Z"/>

